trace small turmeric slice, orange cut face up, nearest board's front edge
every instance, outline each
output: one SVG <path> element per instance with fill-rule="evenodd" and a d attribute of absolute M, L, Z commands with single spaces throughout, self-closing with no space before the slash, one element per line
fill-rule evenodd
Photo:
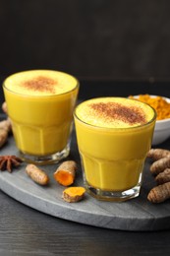
<path fill-rule="evenodd" d="M 84 187 L 69 187 L 63 191 L 63 199 L 68 203 L 81 201 L 85 196 Z"/>

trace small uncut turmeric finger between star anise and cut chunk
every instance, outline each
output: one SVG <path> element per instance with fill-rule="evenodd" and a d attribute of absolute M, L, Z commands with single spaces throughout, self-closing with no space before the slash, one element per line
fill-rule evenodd
<path fill-rule="evenodd" d="M 47 185 L 49 182 L 48 175 L 34 164 L 28 164 L 26 172 L 28 173 L 28 176 L 39 185 Z"/>

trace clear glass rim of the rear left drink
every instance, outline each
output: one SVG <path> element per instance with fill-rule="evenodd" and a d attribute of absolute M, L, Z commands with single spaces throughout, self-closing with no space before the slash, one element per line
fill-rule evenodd
<path fill-rule="evenodd" d="M 72 78 L 75 79 L 76 85 L 75 85 L 74 88 L 72 88 L 71 90 L 69 90 L 69 91 L 67 91 L 67 92 L 64 92 L 64 93 L 61 93 L 61 94 L 43 95 L 43 96 L 40 96 L 40 95 L 27 95 L 27 94 L 17 93 L 17 92 L 14 92 L 13 90 L 9 89 L 9 88 L 6 86 L 5 82 L 8 80 L 8 78 L 10 78 L 10 77 L 12 77 L 12 76 L 14 76 L 14 75 L 17 75 L 17 74 L 20 74 L 20 73 L 24 73 L 24 72 L 29 72 L 29 71 L 54 71 L 54 72 L 59 72 L 59 73 L 62 73 L 62 74 L 66 74 L 66 75 L 71 76 Z M 14 74 L 8 76 L 8 77 L 3 81 L 2 87 L 3 87 L 6 91 L 8 91 L 8 92 L 10 92 L 10 93 L 12 93 L 12 94 L 14 94 L 14 95 L 16 95 L 16 96 L 27 96 L 27 97 L 33 97 L 33 98 L 36 98 L 36 97 L 43 97 L 43 98 L 45 98 L 45 97 L 64 96 L 64 95 L 70 94 L 70 93 L 72 93 L 72 92 L 74 92 L 74 91 L 76 91 L 77 89 L 80 88 L 80 81 L 79 81 L 79 79 L 76 78 L 75 76 L 70 75 L 69 73 L 66 73 L 66 72 L 63 72 L 63 71 L 47 70 L 47 69 L 32 69 L 32 70 L 26 70 L 26 71 L 16 72 L 16 73 L 14 73 Z"/>

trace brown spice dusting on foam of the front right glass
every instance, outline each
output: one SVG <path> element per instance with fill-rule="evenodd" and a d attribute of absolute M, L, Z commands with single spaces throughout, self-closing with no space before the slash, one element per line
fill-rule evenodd
<path fill-rule="evenodd" d="M 95 114 L 106 121 L 120 120 L 131 125 L 146 122 L 144 112 L 136 106 L 125 106 L 118 102 L 90 103 L 89 107 Z"/>

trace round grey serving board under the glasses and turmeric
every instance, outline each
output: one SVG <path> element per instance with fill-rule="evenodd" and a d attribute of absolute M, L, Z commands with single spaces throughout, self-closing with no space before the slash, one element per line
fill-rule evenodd
<path fill-rule="evenodd" d="M 1 149 L 0 154 L 18 155 L 13 137 Z M 82 169 L 77 148 L 75 132 L 73 133 L 71 155 L 69 159 L 77 160 L 79 170 L 74 185 L 84 185 Z M 147 201 L 147 193 L 154 186 L 154 179 L 149 173 L 150 162 L 144 165 L 141 195 L 128 202 L 113 203 L 97 201 L 85 194 L 85 199 L 78 203 L 67 203 L 62 199 L 64 187 L 53 179 L 53 172 L 58 164 L 41 166 L 50 177 L 47 187 L 34 183 L 27 175 L 27 163 L 14 169 L 12 173 L 0 171 L 0 189 L 6 194 L 29 207 L 45 214 L 81 224 L 106 227 L 111 229 L 151 231 L 170 228 L 170 204 L 166 202 L 154 205 Z"/>

